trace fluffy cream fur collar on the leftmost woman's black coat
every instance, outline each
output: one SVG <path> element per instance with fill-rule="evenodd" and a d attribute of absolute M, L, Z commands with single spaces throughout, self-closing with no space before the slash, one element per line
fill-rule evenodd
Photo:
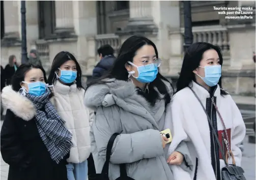
<path fill-rule="evenodd" d="M 5 109 L 10 109 L 19 118 L 29 121 L 35 117 L 36 108 L 33 102 L 14 91 L 11 86 L 6 86 L 2 90 L 1 97 Z"/>

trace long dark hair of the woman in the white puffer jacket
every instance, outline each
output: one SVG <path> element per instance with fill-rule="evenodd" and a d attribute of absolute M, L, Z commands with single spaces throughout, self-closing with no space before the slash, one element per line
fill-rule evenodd
<path fill-rule="evenodd" d="M 76 87 L 78 89 L 83 88 L 82 87 L 82 71 L 81 71 L 81 67 L 79 65 L 79 63 L 77 62 L 75 56 L 67 51 L 61 51 L 58 54 L 56 54 L 56 56 L 53 59 L 52 65 L 51 65 L 51 70 L 50 70 L 50 74 L 48 77 L 48 83 L 49 85 L 52 85 L 52 83 L 54 83 L 54 81 L 56 80 L 56 75 L 55 75 L 55 71 L 58 70 L 58 68 L 61 67 L 62 64 L 64 64 L 65 62 L 69 61 L 69 60 L 73 60 L 76 64 L 76 70 L 77 70 L 77 77 L 76 77 Z M 72 84 L 72 83 L 71 83 Z"/>

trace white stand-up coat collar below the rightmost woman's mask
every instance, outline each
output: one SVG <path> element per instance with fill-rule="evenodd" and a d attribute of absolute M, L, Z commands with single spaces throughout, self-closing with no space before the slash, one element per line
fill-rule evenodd
<path fill-rule="evenodd" d="M 203 86 L 201 86 L 200 84 L 192 81 L 190 83 L 191 89 L 194 90 L 194 92 L 196 93 L 196 95 L 202 100 L 202 102 L 205 101 L 206 98 L 211 97 L 211 93 L 205 89 Z M 213 91 L 213 96 L 215 96 L 217 99 L 218 97 L 220 97 L 220 87 L 219 85 L 217 85 Z"/>

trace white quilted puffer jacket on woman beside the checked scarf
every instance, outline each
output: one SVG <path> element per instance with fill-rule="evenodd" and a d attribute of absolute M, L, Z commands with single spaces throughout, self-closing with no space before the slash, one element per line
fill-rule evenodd
<path fill-rule="evenodd" d="M 54 96 L 51 102 L 61 118 L 66 121 L 66 128 L 73 134 L 73 147 L 70 150 L 71 163 L 81 163 L 91 153 L 90 124 L 94 112 L 83 104 L 83 89 L 77 89 L 76 84 L 66 86 L 56 81 Z"/>

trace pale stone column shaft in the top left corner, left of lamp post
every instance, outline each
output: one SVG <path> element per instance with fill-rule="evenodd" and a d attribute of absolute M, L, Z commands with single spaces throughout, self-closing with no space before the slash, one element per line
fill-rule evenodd
<path fill-rule="evenodd" d="M 20 40 L 19 35 L 19 14 L 18 1 L 4 1 L 4 21 L 5 35 L 4 39 Z"/>

